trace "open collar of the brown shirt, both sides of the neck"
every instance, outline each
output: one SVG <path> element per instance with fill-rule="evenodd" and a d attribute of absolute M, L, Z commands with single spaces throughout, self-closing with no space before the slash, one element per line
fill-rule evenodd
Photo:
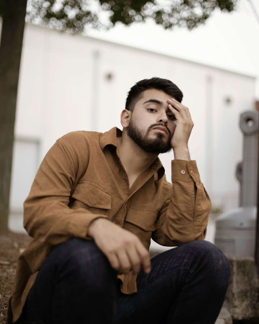
<path fill-rule="evenodd" d="M 121 135 L 122 135 L 122 131 L 117 127 L 113 127 L 108 132 L 103 133 L 99 142 L 102 151 L 107 145 L 113 145 L 118 148 L 117 137 L 120 137 Z M 155 160 L 151 168 L 157 170 L 157 176 L 158 176 L 157 180 L 160 180 L 164 175 L 164 167 L 159 158 Z"/>

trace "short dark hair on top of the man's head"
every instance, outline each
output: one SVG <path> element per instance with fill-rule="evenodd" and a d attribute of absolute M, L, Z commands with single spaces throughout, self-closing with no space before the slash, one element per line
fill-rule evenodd
<path fill-rule="evenodd" d="M 147 89 L 162 90 L 168 95 L 174 97 L 179 102 L 182 102 L 183 100 L 182 91 L 172 81 L 153 77 L 151 79 L 141 80 L 130 88 L 128 97 L 126 99 L 125 109 L 133 111 L 136 102 L 142 97 L 141 93 Z"/>

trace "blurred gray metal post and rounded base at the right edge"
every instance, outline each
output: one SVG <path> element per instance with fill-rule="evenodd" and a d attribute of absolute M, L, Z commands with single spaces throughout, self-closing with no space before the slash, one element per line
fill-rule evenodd
<path fill-rule="evenodd" d="M 236 170 L 240 181 L 240 206 L 220 215 L 216 220 L 215 245 L 227 255 L 254 256 L 257 214 L 258 173 L 257 111 L 246 111 L 240 116 L 244 134 L 243 161 Z"/>

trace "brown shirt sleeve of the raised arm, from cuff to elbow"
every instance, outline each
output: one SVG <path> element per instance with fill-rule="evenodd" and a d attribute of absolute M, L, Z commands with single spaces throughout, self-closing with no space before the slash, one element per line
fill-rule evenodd
<path fill-rule="evenodd" d="M 172 161 L 170 199 L 161 209 L 159 225 L 152 238 L 165 246 L 204 239 L 211 203 L 196 161 Z"/>

